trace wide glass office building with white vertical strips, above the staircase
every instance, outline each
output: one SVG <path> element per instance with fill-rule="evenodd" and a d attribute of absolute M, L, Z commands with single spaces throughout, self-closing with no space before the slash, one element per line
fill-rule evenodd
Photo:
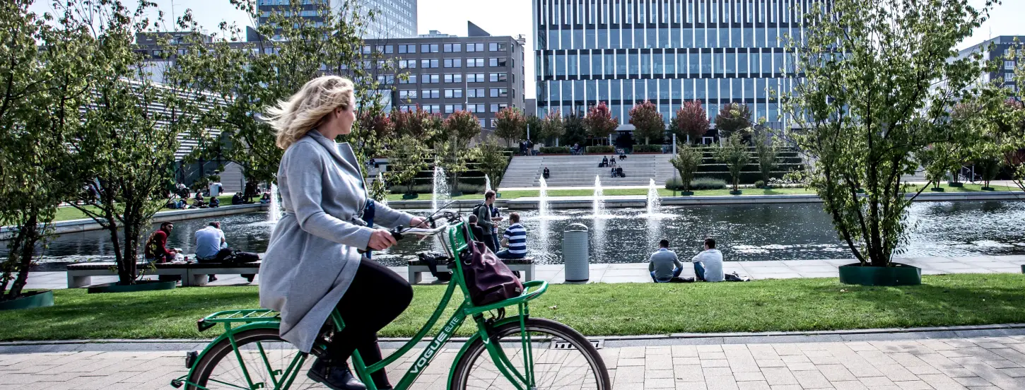
<path fill-rule="evenodd" d="M 788 126 L 773 96 L 790 90 L 787 37 L 804 40 L 802 9 L 823 0 L 534 0 L 538 115 L 583 114 L 599 101 L 632 130 L 651 100 L 666 123 L 700 100 L 747 104 L 752 120 Z"/>

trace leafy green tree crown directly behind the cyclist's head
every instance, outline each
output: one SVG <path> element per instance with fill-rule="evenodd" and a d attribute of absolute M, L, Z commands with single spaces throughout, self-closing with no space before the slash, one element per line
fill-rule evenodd
<path fill-rule="evenodd" d="M 232 3 L 253 20 L 264 12 L 255 1 Z M 286 3 L 256 27 L 255 40 L 248 40 L 244 28 L 234 23 L 222 23 L 217 32 L 206 34 L 187 11 L 178 27 L 191 34 L 176 45 L 180 54 L 169 75 L 179 87 L 208 93 L 197 96 L 209 106 L 196 113 L 200 120 L 190 126 L 191 138 L 199 140 L 197 158 L 227 159 L 259 180 L 275 179 L 284 153 L 259 115 L 268 106 L 287 100 L 316 77 L 338 75 L 353 80 L 360 114 L 376 115 L 383 107 L 378 91 L 391 88 L 370 74 L 379 54 L 360 50 L 361 34 L 376 17 L 373 10 L 357 0 Z M 304 17 L 310 13 L 317 17 Z M 207 42 L 210 38 L 212 42 Z M 216 132 L 221 135 L 214 136 Z M 362 141 L 352 142 L 361 162 L 380 147 L 378 139 L 364 134 L 359 125 L 345 138 Z"/>

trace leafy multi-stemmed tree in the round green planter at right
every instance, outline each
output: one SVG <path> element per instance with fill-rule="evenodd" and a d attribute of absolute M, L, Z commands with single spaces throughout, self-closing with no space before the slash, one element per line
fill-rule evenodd
<path fill-rule="evenodd" d="M 899 253 L 906 210 L 920 193 L 906 196 L 901 179 L 917 167 L 915 155 L 957 141 L 945 126 L 956 101 L 992 93 L 974 84 L 982 54 L 957 55 L 990 9 L 969 3 L 813 3 L 806 17 L 815 28 L 799 50 L 796 41 L 788 45 L 803 75 L 782 99 L 804 129 L 794 141 L 814 162 L 811 187 L 863 265 L 889 266 Z"/>

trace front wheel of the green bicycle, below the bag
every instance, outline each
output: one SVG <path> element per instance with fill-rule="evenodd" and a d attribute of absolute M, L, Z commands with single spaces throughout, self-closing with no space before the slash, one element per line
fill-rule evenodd
<path fill-rule="evenodd" d="M 605 361 L 583 335 L 549 319 L 528 318 L 525 322 L 529 338 L 526 349 L 519 321 L 491 333 L 490 343 L 501 347 L 515 369 L 508 373 L 511 378 L 499 370 L 478 339 L 456 363 L 451 389 L 512 389 L 510 381 L 531 390 L 612 389 Z"/>

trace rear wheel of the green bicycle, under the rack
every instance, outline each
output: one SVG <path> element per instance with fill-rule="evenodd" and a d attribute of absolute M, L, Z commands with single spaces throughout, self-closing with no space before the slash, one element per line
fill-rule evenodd
<path fill-rule="evenodd" d="M 278 336 L 277 329 L 256 329 L 224 339 L 196 362 L 187 390 L 310 389 L 318 384 L 302 371 L 306 354 Z M 290 386 L 289 386 L 290 382 Z"/>

